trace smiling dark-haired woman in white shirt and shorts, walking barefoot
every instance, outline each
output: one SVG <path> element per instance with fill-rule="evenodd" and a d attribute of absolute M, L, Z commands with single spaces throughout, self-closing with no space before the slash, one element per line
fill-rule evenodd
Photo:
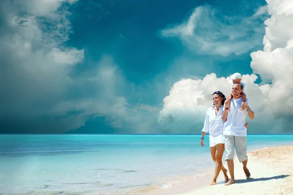
<path fill-rule="evenodd" d="M 213 161 L 216 163 L 214 177 L 210 185 L 217 184 L 217 177 L 221 170 L 225 177 L 225 183 L 228 182 L 229 179 L 227 169 L 225 169 L 222 163 L 222 156 L 225 150 L 225 137 L 223 135 L 224 121 L 222 118 L 225 100 L 225 95 L 220 91 L 216 91 L 212 94 L 213 106 L 207 111 L 204 128 L 202 130 L 203 134 L 200 140 L 201 146 L 204 146 L 205 135 L 209 133 L 210 154 Z M 248 124 L 246 123 L 244 126 L 247 128 Z"/>

